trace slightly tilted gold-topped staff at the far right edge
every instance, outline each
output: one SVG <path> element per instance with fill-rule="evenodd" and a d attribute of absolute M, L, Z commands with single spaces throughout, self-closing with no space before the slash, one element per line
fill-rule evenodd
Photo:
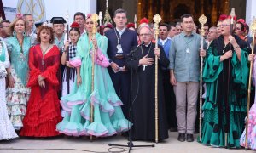
<path fill-rule="evenodd" d="M 256 32 L 256 20 L 253 20 L 251 24 L 251 31 L 253 32 L 253 45 L 252 45 L 252 54 L 254 51 L 254 41 L 255 41 L 255 32 Z M 249 82 L 248 82 L 248 95 L 247 95 L 247 120 L 246 120 L 246 139 L 245 139 L 245 150 L 248 149 L 248 122 L 249 122 L 249 111 L 250 111 L 250 100 L 251 100 L 251 83 L 252 83 L 252 71 L 253 71 L 253 61 L 250 62 L 250 73 L 249 73 Z"/>

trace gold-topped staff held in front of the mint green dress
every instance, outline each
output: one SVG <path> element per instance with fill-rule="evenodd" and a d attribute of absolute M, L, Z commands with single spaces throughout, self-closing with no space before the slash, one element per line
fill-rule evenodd
<path fill-rule="evenodd" d="M 92 37 L 95 38 L 96 35 L 96 24 L 99 20 L 99 17 L 97 14 L 91 14 L 90 19 L 93 21 L 93 27 L 92 27 Z M 94 91 L 94 56 L 95 56 L 95 48 L 92 49 L 91 53 L 91 93 Z M 90 101 L 90 123 L 92 123 L 94 120 L 94 106 L 92 101 Z M 90 141 L 92 141 L 92 135 L 90 135 Z"/>

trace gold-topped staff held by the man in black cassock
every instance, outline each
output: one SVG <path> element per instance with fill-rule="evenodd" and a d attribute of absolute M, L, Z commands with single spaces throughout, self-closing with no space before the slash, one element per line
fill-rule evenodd
<path fill-rule="evenodd" d="M 159 14 L 154 15 L 154 38 L 157 41 L 159 35 L 159 23 L 162 20 Z M 158 48 L 157 42 L 155 42 L 155 48 Z M 158 143 L 158 57 L 154 56 L 155 60 L 155 82 L 154 82 L 154 105 L 155 105 L 155 143 Z"/>

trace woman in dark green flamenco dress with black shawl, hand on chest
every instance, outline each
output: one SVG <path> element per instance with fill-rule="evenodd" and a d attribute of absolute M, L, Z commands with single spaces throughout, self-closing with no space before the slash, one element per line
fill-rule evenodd
<path fill-rule="evenodd" d="M 240 148 L 247 110 L 247 44 L 230 35 L 230 23 L 230 19 L 222 21 L 221 35 L 207 50 L 203 70 L 207 96 L 202 108 L 201 143 Z"/>

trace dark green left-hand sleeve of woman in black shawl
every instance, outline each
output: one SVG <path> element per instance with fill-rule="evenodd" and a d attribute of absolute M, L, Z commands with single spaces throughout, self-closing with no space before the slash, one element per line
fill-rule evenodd
<path fill-rule="evenodd" d="M 220 61 L 220 56 L 214 55 L 213 52 L 217 52 L 217 49 L 212 46 L 208 48 L 202 75 L 205 82 L 215 82 L 219 73 L 223 70 L 223 62 Z"/>

